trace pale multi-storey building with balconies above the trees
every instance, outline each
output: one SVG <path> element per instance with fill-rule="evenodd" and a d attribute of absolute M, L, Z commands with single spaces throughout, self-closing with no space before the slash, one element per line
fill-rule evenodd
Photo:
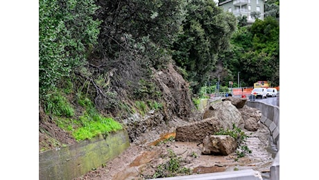
<path fill-rule="evenodd" d="M 259 19 L 264 20 L 265 0 L 219 0 L 218 6 L 225 11 L 232 12 L 235 17 L 245 15 L 250 24 L 255 22 L 255 18 L 250 16 L 251 12 L 259 12 Z"/>

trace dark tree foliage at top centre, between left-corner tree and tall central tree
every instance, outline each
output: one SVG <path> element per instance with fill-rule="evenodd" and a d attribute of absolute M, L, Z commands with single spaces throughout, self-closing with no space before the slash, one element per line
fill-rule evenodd
<path fill-rule="evenodd" d="M 103 22 L 95 55 L 100 59 L 114 58 L 120 51 L 133 51 L 126 46 L 130 45 L 128 43 L 137 46 L 146 39 L 168 48 L 180 31 L 186 4 L 186 0 L 98 0 L 97 5 L 101 8 L 96 19 L 103 19 Z"/>

